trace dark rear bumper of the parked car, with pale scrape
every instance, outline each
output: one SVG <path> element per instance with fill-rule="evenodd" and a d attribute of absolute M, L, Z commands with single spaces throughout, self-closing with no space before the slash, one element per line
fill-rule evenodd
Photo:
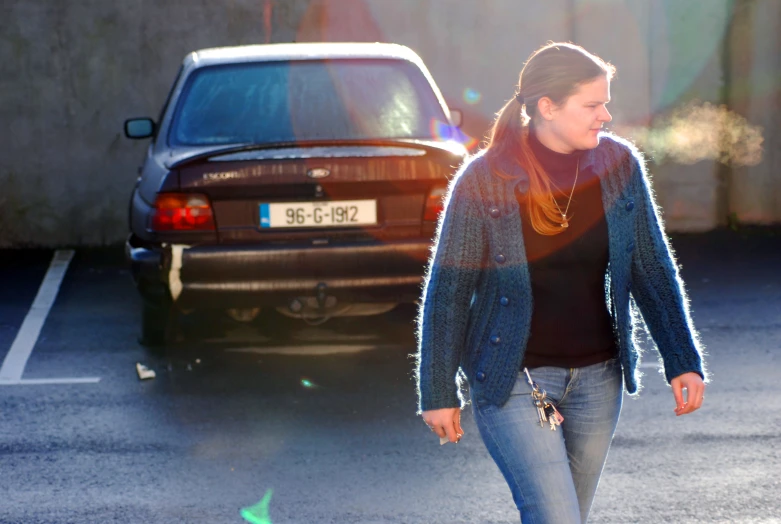
<path fill-rule="evenodd" d="M 168 294 L 183 308 L 414 302 L 431 241 L 360 244 L 134 246 L 126 256 L 147 300 Z"/>

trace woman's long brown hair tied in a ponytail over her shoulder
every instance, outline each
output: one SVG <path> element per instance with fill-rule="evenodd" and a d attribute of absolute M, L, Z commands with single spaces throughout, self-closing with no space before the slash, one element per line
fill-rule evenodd
<path fill-rule="evenodd" d="M 493 162 L 499 155 L 507 155 L 528 173 L 531 224 L 542 235 L 563 232 L 564 220 L 550 190 L 550 177 L 529 146 L 529 124 L 537 114 L 537 102 L 548 97 L 561 105 L 581 84 L 602 75 L 611 80 L 615 71 L 614 66 L 578 45 L 549 42 L 532 53 L 521 70 L 517 95 L 523 98 L 523 105 L 513 97 L 497 113 L 488 135 L 486 158 L 491 171 L 501 178 L 512 175 Z"/>

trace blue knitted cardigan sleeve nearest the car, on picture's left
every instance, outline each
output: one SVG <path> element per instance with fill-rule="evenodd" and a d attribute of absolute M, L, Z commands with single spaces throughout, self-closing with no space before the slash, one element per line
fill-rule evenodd
<path fill-rule="evenodd" d="M 484 242 L 479 191 L 470 190 L 474 169 L 472 160 L 450 182 L 423 280 L 416 326 L 418 414 L 461 407 L 456 375 Z"/>

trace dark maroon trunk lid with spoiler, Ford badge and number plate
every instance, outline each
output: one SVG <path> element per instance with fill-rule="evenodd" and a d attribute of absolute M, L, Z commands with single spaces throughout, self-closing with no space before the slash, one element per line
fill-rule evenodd
<path fill-rule="evenodd" d="M 447 184 L 463 158 L 453 145 L 424 141 L 236 149 L 180 157 L 172 165 L 183 191 L 211 200 L 220 242 L 426 236 L 426 197 Z M 315 208 L 325 217 L 319 224 Z M 339 216 L 360 220 L 351 225 Z M 283 222 L 301 217 L 301 223 Z"/>

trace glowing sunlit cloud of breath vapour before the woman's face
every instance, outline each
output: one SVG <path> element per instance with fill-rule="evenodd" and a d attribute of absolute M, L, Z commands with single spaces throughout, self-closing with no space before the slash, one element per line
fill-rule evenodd
<path fill-rule="evenodd" d="M 750 124 L 726 106 L 691 102 L 656 119 L 650 128 L 625 128 L 619 134 L 632 137 L 656 162 L 716 160 L 753 166 L 762 161 L 762 132 L 762 127 Z"/>

